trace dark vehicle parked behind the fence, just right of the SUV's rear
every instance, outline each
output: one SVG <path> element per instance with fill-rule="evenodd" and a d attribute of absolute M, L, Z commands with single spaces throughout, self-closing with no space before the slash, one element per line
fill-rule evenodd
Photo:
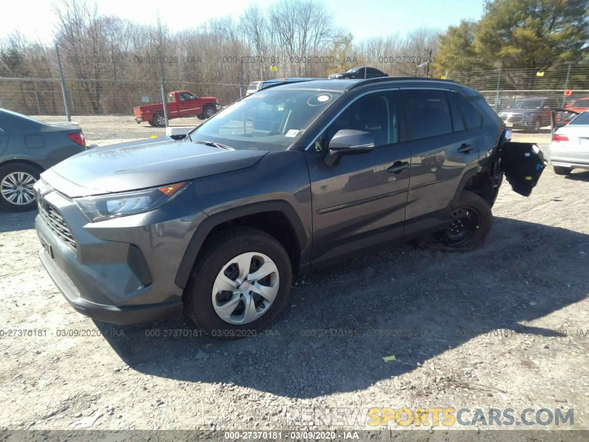
<path fill-rule="evenodd" d="M 507 127 L 540 130 L 550 126 L 550 111 L 560 107 L 561 101 L 562 98 L 558 97 L 516 98 L 498 116 Z"/>

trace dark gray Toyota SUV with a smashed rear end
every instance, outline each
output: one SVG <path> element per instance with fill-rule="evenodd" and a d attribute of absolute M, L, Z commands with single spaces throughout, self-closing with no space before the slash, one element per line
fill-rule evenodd
<path fill-rule="evenodd" d="M 476 249 L 502 177 L 528 196 L 546 164 L 477 91 L 426 78 L 277 85 L 174 138 L 84 151 L 35 184 L 39 256 L 78 312 L 185 311 L 247 336 L 293 274 L 395 240 Z"/>

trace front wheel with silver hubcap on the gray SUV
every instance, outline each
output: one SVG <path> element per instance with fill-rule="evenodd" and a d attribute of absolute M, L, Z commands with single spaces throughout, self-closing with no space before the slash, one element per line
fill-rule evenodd
<path fill-rule="evenodd" d="M 288 302 L 292 265 L 282 244 L 251 227 L 208 241 L 184 290 L 188 317 L 220 339 L 253 336 Z"/>

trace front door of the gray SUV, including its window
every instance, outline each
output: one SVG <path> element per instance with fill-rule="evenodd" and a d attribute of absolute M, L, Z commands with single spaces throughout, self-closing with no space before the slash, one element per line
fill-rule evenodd
<path fill-rule="evenodd" d="M 314 269 L 403 235 L 411 154 L 399 143 L 401 124 L 399 90 L 361 95 L 305 152 L 313 198 Z M 329 141 L 342 129 L 368 131 L 375 148 L 344 155 L 327 166 Z"/>

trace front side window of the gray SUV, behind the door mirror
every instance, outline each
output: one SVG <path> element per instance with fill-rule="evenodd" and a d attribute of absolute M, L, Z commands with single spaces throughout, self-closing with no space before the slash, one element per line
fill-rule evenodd
<path fill-rule="evenodd" d="M 311 149 L 327 153 L 329 141 L 342 129 L 355 129 L 372 135 L 375 147 L 399 142 L 399 124 L 395 92 L 364 95 L 349 104 L 317 138 Z"/>

